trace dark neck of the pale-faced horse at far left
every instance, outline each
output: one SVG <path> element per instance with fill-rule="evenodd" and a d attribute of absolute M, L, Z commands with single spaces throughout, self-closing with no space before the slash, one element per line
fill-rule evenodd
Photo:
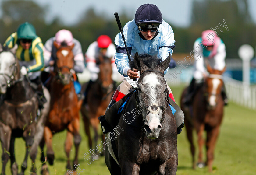
<path fill-rule="evenodd" d="M 30 100 L 34 96 L 34 92 L 27 80 L 17 82 L 15 85 L 9 87 L 6 92 L 6 100 L 15 103 L 22 103 Z"/>

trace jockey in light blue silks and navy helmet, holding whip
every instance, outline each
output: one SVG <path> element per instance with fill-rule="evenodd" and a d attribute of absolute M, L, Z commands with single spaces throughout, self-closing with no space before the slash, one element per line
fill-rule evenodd
<path fill-rule="evenodd" d="M 175 47 L 172 27 L 162 19 L 162 13 L 158 7 L 153 4 L 141 5 L 135 13 L 135 19 L 129 21 L 123 27 L 123 34 L 129 54 L 132 57 L 138 52 L 138 54 L 145 53 L 155 55 L 164 60 L 169 56 L 169 53 L 172 55 L 173 48 Z M 124 76 L 125 80 L 116 89 L 109 107 L 128 94 L 131 89 L 137 87 L 137 81 L 140 75 L 140 72 L 137 70 L 132 71 L 129 67 L 129 60 L 121 33 L 117 34 L 115 44 L 115 63 L 118 72 Z M 175 62 L 173 60 L 171 60 L 171 62 L 175 67 Z M 164 74 L 167 71 L 168 68 L 165 70 Z M 133 79 L 136 78 L 137 81 L 134 81 Z M 174 101 L 172 91 L 168 85 L 167 88 L 170 99 Z M 176 109 L 172 106 L 171 108 L 176 118 L 178 133 L 180 133 L 181 128 L 183 128 L 184 116 L 175 115 Z"/>

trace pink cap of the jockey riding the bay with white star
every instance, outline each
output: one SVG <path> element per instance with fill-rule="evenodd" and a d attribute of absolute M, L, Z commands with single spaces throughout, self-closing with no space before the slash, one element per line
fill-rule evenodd
<path fill-rule="evenodd" d="M 67 43 L 68 46 L 73 44 L 73 35 L 69 30 L 62 29 L 55 34 L 55 41 L 60 45 L 62 42 Z"/>

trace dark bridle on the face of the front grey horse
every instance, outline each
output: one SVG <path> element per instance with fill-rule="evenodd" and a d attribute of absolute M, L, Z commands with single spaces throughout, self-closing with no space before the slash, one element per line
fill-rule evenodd
<path fill-rule="evenodd" d="M 162 72 L 160 72 L 160 71 L 157 71 L 157 70 L 145 70 L 145 71 L 143 71 L 141 74 L 140 74 L 140 76 L 144 73 L 144 72 L 158 72 L 158 73 L 160 73 L 161 75 L 163 75 L 163 77 L 164 77 L 164 74 L 162 73 Z M 139 102 L 139 95 L 138 95 L 138 91 L 140 91 L 140 87 L 136 87 L 135 88 L 135 90 L 134 90 L 135 92 L 136 92 L 136 95 L 135 95 L 135 99 L 136 99 L 136 101 L 138 102 L 138 103 L 140 103 Z M 169 104 L 169 105 L 171 105 L 171 103 L 169 102 L 169 94 L 168 94 L 168 89 L 167 89 L 167 87 L 165 88 L 165 100 L 167 101 L 167 103 Z M 147 109 L 147 108 L 149 108 L 149 107 L 151 107 L 151 106 L 146 106 L 146 107 L 144 107 L 144 108 L 142 108 L 142 111 L 144 111 L 145 109 Z M 162 117 L 162 120 L 161 120 L 161 122 L 164 120 L 164 118 L 165 118 L 165 110 L 167 109 L 167 107 L 168 107 L 168 105 L 166 106 L 166 108 L 165 108 L 165 106 L 156 106 L 157 108 L 159 107 L 159 109 L 160 110 L 162 110 L 162 113 L 164 114 L 164 116 Z M 142 112 L 141 111 L 141 112 Z M 147 115 L 150 113 L 150 111 L 147 113 Z"/>

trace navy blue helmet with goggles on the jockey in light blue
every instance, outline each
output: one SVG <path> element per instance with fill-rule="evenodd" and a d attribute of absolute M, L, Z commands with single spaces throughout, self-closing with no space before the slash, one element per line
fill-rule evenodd
<path fill-rule="evenodd" d="M 155 32 L 158 30 L 158 26 L 162 24 L 162 13 L 156 5 L 143 4 L 137 9 L 135 13 L 135 24 L 137 24 L 139 30 Z"/>

